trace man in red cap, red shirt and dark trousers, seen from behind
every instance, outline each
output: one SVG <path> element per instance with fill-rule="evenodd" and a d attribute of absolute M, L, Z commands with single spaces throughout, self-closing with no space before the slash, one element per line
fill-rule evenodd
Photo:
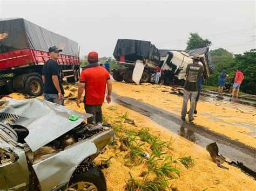
<path fill-rule="evenodd" d="M 82 71 L 78 86 L 77 106 L 80 108 L 81 96 L 85 89 L 84 108 L 93 116 L 87 118 L 87 123 L 102 123 L 102 104 L 105 98 L 107 84 L 107 103 L 111 102 L 112 83 L 107 70 L 98 65 L 98 53 L 90 52 L 87 58 L 90 63 Z"/>

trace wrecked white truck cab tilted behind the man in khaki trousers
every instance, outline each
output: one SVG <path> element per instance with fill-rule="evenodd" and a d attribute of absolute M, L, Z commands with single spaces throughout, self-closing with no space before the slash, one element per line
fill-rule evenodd
<path fill-rule="evenodd" d="M 183 86 L 185 83 L 186 68 L 193 62 L 193 55 L 201 56 L 199 64 L 204 67 L 204 78 L 206 79 L 213 72 L 214 66 L 208 47 L 192 49 L 189 51 L 160 50 L 161 70 L 164 72 L 164 81 L 169 84 Z"/>

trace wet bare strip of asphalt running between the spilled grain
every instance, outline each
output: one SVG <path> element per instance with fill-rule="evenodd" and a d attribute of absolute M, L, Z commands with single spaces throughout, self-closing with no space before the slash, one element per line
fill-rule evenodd
<path fill-rule="evenodd" d="M 180 117 L 171 112 L 154 107 L 153 105 L 134 100 L 130 97 L 118 96 L 114 93 L 112 96 L 114 102 L 151 118 L 159 125 L 193 143 L 206 147 L 208 144 L 216 142 L 219 147 L 219 153 L 224 155 L 224 157 L 230 158 L 234 162 L 243 162 L 245 166 L 256 171 L 255 148 L 242 144 L 237 140 L 231 140 L 203 126 L 184 122 Z"/>

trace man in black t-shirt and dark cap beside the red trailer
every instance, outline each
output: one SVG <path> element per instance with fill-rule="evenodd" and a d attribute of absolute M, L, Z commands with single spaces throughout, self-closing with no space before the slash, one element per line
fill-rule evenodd
<path fill-rule="evenodd" d="M 57 46 L 49 48 L 50 59 L 45 62 L 43 67 L 44 100 L 64 105 L 64 89 L 60 80 L 60 69 L 58 65 L 59 49 Z"/>

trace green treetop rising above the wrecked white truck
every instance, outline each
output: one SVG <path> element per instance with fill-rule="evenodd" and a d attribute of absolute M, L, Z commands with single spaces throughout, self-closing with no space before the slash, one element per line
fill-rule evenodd
<path fill-rule="evenodd" d="M 211 46 L 212 42 L 208 39 L 203 39 L 199 36 L 197 32 L 190 33 L 190 37 L 187 40 L 186 51 L 190 49 L 203 48 Z"/>

